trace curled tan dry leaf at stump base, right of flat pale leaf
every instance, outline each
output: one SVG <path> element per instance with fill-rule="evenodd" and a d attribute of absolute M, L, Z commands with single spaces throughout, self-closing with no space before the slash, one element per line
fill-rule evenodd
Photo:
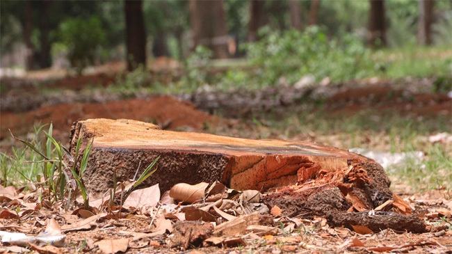
<path fill-rule="evenodd" d="M 200 182 L 196 185 L 176 184 L 170 189 L 170 197 L 184 203 L 195 203 L 202 199 L 207 186 L 209 186 L 207 182 Z"/>

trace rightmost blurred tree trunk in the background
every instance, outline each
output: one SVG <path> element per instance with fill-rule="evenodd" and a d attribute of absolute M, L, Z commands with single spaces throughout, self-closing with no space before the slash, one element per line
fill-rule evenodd
<path fill-rule="evenodd" d="M 432 44 L 433 6 L 433 0 L 419 0 L 417 40 L 420 45 Z"/>

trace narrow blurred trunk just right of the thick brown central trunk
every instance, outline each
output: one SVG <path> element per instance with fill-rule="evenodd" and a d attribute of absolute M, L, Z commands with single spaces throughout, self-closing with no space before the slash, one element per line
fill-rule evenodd
<path fill-rule="evenodd" d="M 250 21 L 248 22 L 248 41 L 258 40 L 257 31 L 268 24 L 268 15 L 265 10 L 266 1 L 250 1 Z"/>

